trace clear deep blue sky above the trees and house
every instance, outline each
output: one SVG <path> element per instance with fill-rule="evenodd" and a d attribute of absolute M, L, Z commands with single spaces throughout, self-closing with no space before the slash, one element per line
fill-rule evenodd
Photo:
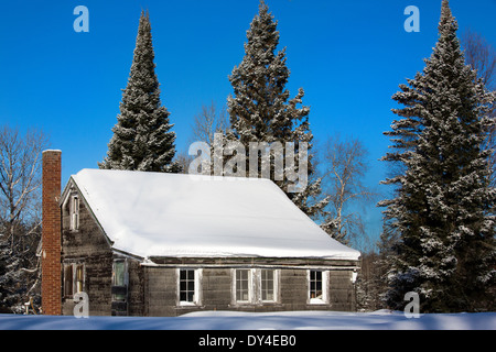
<path fill-rule="evenodd" d="M 496 45 L 496 0 L 452 0 L 460 25 Z M 63 151 L 63 183 L 95 168 L 107 153 L 136 44 L 139 15 L 150 11 L 162 103 L 175 124 L 179 151 L 191 141 L 202 105 L 226 103 L 228 75 L 244 55 L 258 0 L 2 1 L 0 12 L 0 124 L 35 127 Z M 368 148 L 367 183 L 395 118 L 391 96 L 423 68 L 438 37 L 441 0 L 267 0 L 279 21 L 280 45 L 291 70 L 288 88 L 305 90 L 317 141 L 341 133 Z M 89 10 L 89 32 L 76 33 L 74 8 Z M 420 12 L 420 32 L 408 33 L 408 6 Z M 380 231 L 380 209 L 366 211 L 369 232 Z"/>

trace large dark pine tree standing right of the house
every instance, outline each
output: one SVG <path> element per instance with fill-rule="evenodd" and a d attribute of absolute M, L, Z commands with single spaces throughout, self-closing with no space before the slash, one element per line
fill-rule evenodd
<path fill-rule="evenodd" d="M 483 150 L 494 101 L 465 64 L 457 23 L 442 1 L 439 40 L 425 67 L 392 98 L 396 150 L 384 161 L 402 172 L 384 182 L 396 198 L 382 201 L 400 239 L 390 272 L 389 304 L 400 308 L 418 292 L 428 311 L 475 310 L 490 306 L 495 283 L 495 190 Z"/>

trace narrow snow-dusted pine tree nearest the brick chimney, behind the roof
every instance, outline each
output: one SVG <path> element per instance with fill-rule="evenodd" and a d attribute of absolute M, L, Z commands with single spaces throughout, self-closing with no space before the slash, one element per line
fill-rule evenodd
<path fill-rule="evenodd" d="M 112 128 L 107 157 L 100 168 L 143 172 L 180 172 L 175 155 L 175 133 L 170 112 L 161 105 L 155 75 L 149 13 L 141 13 L 134 57 L 122 94 L 120 114 Z"/>

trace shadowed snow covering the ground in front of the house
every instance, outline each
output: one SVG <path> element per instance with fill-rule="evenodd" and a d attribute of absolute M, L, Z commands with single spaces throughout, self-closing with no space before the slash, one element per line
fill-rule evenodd
<path fill-rule="evenodd" d="M 496 330 L 496 312 L 203 311 L 174 318 L 0 315 L 0 330 Z"/>

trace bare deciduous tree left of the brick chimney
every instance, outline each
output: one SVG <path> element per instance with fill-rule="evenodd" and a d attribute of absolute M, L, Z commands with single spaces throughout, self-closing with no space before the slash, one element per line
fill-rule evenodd
<path fill-rule="evenodd" d="M 22 308 L 39 282 L 41 155 L 47 138 L 37 130 L 0 128 L 0 306 Z M 21 307 L 21 308 L 20 308 Z"/>

